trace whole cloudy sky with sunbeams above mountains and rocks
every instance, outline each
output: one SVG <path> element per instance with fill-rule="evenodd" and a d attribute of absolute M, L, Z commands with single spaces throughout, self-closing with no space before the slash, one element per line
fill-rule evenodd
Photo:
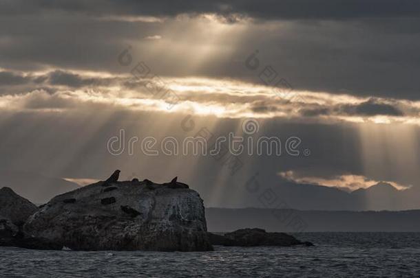
<path fill-rule="evenodd" d="M 255 175 L 419 188 L 419 15 L 409 0 L 0 0 L 1 170 L 178 176 L 209 207 L 258 205 Z M 232 170 L 142 150 L 202 132 L 277 137 L 282 154 L 242 153 Z"/>

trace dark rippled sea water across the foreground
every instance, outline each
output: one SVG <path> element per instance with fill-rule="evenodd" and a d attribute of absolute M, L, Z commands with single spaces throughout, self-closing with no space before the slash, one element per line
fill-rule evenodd
<path fill-rule="evenodd" d="M 0 277 L 420 277 L 420 233 L 300 233 L 315 247 L 214 252 L 0 248 Z"/>

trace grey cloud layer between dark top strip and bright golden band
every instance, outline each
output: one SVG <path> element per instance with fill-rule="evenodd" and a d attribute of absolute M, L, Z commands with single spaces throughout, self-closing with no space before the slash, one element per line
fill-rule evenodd
<path fill-rule="evenodd" d="M 220 40 L 216 45 L 208 43 L 215 51 L 203 55 L 200 51 L 213 34 L 197 26 L 209 22 L 98 20 L 92 15 L 105 9 L 103 5 L 77 1 L 74 6 L 68 4 L 70 8 L 65 5 L 74 11 L 83 10 L 78 6 L 84 5 L 90 7 L 87 11 L 92 10 L 74 14 L 60 12 L 57 8 L 60 3 L 43 2 L 44 8 L 39 8 L 38 16 L 30 13 L 0 18 L 0 67 L 22 71 L 54 67 L 127 73 L 129 69 L 118 65 L 116 58 L 132 44 L 134 59 L 144 60 L 160 76 L 228 77 L 262 84 L 258 76 L 265 66 L 271 65 L 295 90 L 420 98 L 416 75 L 420 71 L 418 17 L 382 14 L 349 21 L 282 19 L 275 23 L 246 23 L 244 32 L 229 31 L 232 39 Z M 127 1 L 115 5 L 123 10 L 125 4 L 131 5 Z M 13 5 L 19 5 L 19 1 Z M 49 5 L 57 7 L 48 8 Z M 114 2 L 104 4 L 107 5 Z M 143 40 L 155 35 L 162 38 Z M 244 60 L 255 49 L 260 50 L 260 68 L 249 71 L 244 67 Z M 188 67 L 189 61 L 202 58 L 207 60 Z"/>

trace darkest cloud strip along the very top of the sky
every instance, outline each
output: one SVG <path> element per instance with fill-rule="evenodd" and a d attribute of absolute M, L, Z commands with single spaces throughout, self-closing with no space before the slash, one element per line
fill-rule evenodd
<path fill-rule="evenodd" d="M 2 1 L 3 14 L 33 12 L 83 12 L 96 15 L 176 16 L 216 13 L 232 20 L 232 14 L 258 19 L 354 19 L 361 17 L 419 16 L 420 4 L 410 0 L 233 0 L 233 1 L 135 1 L 135 0 L 15 0 Z M 234 21 L 234 20 L 233 20 Z"/>

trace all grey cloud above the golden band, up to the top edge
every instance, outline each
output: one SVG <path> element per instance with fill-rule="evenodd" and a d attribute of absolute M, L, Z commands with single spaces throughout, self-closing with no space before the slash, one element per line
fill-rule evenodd
<path fill-rule="evenodd" d="M 271 65 L 297 90 L 419 100 L 420 5 L 415 1 L 0 5 L 0 66 L 5 69 L 124 73 L 127 69 L 118 65 L 116 56 L 132 45 L 135 58 L 145 60 L 160 76 L 235 78 L 259 84 L 260 72 Z M 213 20 L 205 14 L 242 16 L 218 23 L 218 16 Z M 202 32 L 199 26 L 205 25 L 211 27 Z M 222 36 L 224 32 L 229 36 Z M 220 37 L 216 44 L 214 37 Z M 204 54 L 203 45 L 211 51 Z M 255 49 L 260 51 L 260 69 L 249 71 L 244 61 Z M 198 66 L 191 60 L 202 62 Z"/>

